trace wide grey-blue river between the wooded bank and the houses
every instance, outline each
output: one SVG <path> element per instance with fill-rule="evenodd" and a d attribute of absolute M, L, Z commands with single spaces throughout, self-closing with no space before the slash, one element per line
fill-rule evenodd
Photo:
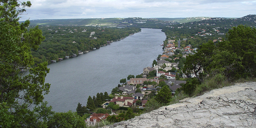
<path fill-rule="evenodd" d="M 44 100 L 56 112 L 76 111 L 78 102 L 86 106 L 89 96 L 111 93 L 120 79 L 141 74 L 143 68 L 163 53 L 160 44 L 166 36 L 161 29 L 142 28 L 141 32 L 110 45 L 48 65 L 45 82 L 51 84 Z"/>

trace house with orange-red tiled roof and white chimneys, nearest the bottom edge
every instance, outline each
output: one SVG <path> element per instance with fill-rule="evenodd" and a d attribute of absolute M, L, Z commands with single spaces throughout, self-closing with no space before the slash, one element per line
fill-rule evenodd
<path fill-rule="evenodd" d="M 109 114 L 94 113 L 90 115 L 90 117 L 88 117 L 85 121 L 87 122 L 87 124 L 95 125 L 98 124 L 101 120 L 107 119 L 108 116 Z"/>

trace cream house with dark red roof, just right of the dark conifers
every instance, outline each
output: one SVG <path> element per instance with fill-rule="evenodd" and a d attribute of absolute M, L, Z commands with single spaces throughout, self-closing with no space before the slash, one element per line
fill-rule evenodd
<path fill-rule="evenodd" d="M 131 107 L 134 101 L 133 97 L 114 97 L 109 102 L 114 102 L 115 104 L 119 105 L 119 107 Z"/>

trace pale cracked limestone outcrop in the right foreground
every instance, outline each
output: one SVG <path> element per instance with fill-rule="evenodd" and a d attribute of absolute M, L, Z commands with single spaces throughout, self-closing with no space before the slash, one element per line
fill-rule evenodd
<path fill-rule="evenodd" d="M 105 128 L 256 127 L 256 83 L 215 89 Z"/>

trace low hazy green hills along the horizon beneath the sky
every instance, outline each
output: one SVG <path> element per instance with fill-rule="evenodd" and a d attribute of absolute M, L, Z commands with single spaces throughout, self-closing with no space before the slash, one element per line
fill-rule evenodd
<path fill-rule="evenodd" d="M 50 26 L 117 26 L 123 24 L 124 26 L 133 26 L 140 28 L 158 28 L 163 29 L 168 25 L 175 25 L 180 23 L 204 23 L 209 20 L 220 20 L 226 23 L 236 22 L 240 24 L 252 25 L 254 23 L 255 15 L 247 15 L 241 18 L 216 18 L 216 17 L 188 17 L 188 18 L 93 18 L 93 19 L 43 19 L 30 20 L 30 25 L 50 25 Z M 253 20 L 253 21 L 252 21 Z M 237 22 L 238 21 L 238 22 Z M 24 22 L 24 21 L 21 21 Z M 225 24 L 225 23 L 224 23 Z"/>

